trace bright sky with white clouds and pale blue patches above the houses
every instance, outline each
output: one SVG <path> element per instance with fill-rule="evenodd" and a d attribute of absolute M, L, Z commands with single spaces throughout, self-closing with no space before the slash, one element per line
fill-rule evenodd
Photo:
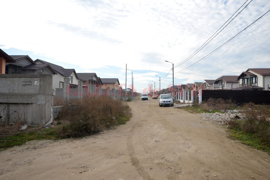
<path fill-rule="evenodd" d="M 270 9 L 269 0 L 248 0 L 242 6 L 245 2 L 0 0 L 0 48 L 9 55 L 118 78 L 121 84 L 127 64 L 127 85 L 133 70 L 137 92 L 152 80 L 159 88 L 157 76 L 161 89 L 172 84 L 172 64 L 165 60 L 174 63 L 174 84 L 239 75 L 248 68 L 270 67 L 270 12 L 202 58 Z M 210 43 L 181 63 L 249 2 Z"/>

